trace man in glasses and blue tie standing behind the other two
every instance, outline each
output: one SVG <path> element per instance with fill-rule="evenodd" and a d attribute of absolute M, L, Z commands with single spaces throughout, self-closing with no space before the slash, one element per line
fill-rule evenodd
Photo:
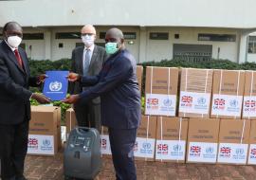
<path fill-rule="evenodd" d="M 94 76 L 101 71 L 102 63 L 106 59 L 105 49 L 94 45 L 96 30 L 92 25 L 85 25 L 81 29 L 82 42 L 84 45 L 75 48 L 72 52 L 71 71 L 84 76 Z M 80 83 L 71 83 L 70 94 L 79 94 L 87 87 L 82 87 Z M 96 97 L 85 104 L 75 104 L 79 126 L 93 127 L 101 130 L 101 99 Z M 101 132 L 101 131 L 100 131 Z"/>

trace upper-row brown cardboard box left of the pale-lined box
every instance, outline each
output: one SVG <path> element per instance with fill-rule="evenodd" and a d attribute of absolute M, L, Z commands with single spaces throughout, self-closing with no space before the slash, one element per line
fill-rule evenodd
<path fill-rule="evenodd" d="M 147 67 L 145 114 L 175 117 L 177 85 L 178 68 Z"/>

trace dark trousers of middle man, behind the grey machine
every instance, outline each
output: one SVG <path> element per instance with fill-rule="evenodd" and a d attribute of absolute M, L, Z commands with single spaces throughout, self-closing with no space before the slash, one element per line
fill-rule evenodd
<path fill-rule="evenodd" d="M 101 132 L 101 104 L 74 105 L 79 126 L 96 128 Z"/>

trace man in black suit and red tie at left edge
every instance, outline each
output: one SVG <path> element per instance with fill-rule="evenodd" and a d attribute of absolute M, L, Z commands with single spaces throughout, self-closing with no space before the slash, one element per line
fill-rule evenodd
<path fill-rule="evenodd" d="M 28 86 L 36 86 L 46 75 L 30 77 L 26 52 L 19 47 L 22 27 L 9 22 L 3 27 L 0 43 L 0 160 L 2 180 L 25 180 L 24 161 L 27 154 L 29 99 L 49 102 L 34 94 Z"/>

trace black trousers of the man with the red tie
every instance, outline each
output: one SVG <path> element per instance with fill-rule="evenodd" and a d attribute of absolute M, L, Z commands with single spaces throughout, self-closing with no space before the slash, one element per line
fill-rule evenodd
<path fill-rule="evenodd" d="M 23 175 L 27 154 L 28 123 L 28 120 L 24 120 L 15 125 L 0 124 L 2 180 Z"/>

